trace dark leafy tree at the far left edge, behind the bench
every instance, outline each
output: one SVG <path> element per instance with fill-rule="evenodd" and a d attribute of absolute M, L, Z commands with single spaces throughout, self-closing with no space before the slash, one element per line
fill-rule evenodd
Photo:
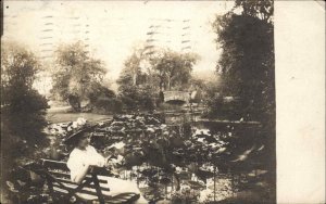
<path fill-rule="evenodd" d="M 1 48 L 1 142 L 4 171 L 24 158 L 36 158 L 49 143 L 43 133 L 48 103 L 33 88 L 40 68 L 38 59 L 17 43 Z M 3 166 L 2 166 L 3 167 Z"/>

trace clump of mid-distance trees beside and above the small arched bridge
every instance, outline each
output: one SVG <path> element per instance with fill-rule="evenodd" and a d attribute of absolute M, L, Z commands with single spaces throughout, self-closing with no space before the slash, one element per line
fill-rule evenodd
<path fill-rule="evenodd" d="M 162 94 L 163 90 L 188 89 L 192 66 L 199 59 L 196 54 L 170 50 L 162 50 L 149 59 L 143 51 L 142 48 L 134 49 L 117 80 L 118 95 L 131 110 L 154 109 L 160 102 L 160 91 Z"/>

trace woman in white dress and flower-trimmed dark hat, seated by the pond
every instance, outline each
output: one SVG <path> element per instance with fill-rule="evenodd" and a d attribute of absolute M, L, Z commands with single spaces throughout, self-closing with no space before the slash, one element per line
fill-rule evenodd
<path fill-rule="evenodd" d="M 67 167 L 71 170 L 71 180 L 76 183 L 82 183 L 87 175 L 87 171 L 91 166 L 109 166 L 110 157 L 103 157 L 99 154 L 96 149 L 89 145 L 89 133 L 85 130 L 80 130 L 72 136 L 70 136 L 64 143 L 74 146 L 71 152 Z M 108 180 L 108 186 L 110 188 L 109 195 L 116 195 L 124 192 L 139 193 L 136 183 L 130 181 L 105 177 Z M 135 202 L 136 204 L 148 203 L 142 195 Z"/>

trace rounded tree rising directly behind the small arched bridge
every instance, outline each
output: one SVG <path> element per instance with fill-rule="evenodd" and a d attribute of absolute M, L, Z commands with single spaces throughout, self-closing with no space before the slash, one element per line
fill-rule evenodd
<path fill-rule="evenodd" d="M 192 66 L 199 56 L 193 53 L 180 54 L 171 50 L 163 51 L 152 59 L 153 71 L 160 81 L 160 90 L 180 89 L 189 85 Z"/>

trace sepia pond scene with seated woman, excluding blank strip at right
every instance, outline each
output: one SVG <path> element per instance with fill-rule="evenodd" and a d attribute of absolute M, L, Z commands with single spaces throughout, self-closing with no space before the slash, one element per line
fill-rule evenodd
<path fill-rule="evenodd" d="M 276 203 L 274 39 L 273 0 L 1 1 L 1 203 Z"/>

